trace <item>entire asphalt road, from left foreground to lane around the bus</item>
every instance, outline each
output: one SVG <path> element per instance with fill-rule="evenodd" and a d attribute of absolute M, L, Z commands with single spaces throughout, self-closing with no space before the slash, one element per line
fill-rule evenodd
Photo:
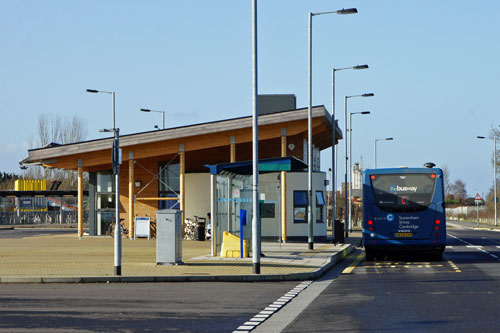
<path fill-rule="evenodd" d="M 441 262 L 367 262 L 358 249 L 307 288 L 300 282 L 3 284 L 0 331 L 232 332 L 245 331 L 253 319 L 263 320 L 253 332 L 497 332 L 500 233 L 448 231 Z M 297 285 L 303 286 L 298 296 L 270 309 Z"/>

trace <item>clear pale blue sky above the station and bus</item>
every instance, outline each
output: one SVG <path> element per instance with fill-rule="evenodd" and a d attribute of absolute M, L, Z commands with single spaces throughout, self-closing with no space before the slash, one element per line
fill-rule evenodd
<path fill-rule="evenodd" d="M 342 131 L 344 96 L 353 116 L 352 160 L 373 167 L 448 167 L 469 195 L 493 184 L 500 125 L 498 0 L 260 0 L 260 94 L 295 94 L 307 107 L 308 13 L 313 19 L 313 105 L 332 110 Z M 116 123 L 121 134 L 252 114 L 251 0 L 0 1 L 0 171 L 20 173 L 42 114 L 82 118 L 88 139 Z M 344 154 L 339 144 L 340 157 Z M 339 160 L 338 182 L 342 179 Z M 321 155 L 331 167 L 331 149 Z"/>

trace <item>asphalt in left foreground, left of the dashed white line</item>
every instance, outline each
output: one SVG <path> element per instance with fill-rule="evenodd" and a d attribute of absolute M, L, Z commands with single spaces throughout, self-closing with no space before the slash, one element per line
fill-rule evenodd
<path fill-rule="evenodd" d="M 2 284 L 0 331 L 232 332 L 297 284 Z"/>

